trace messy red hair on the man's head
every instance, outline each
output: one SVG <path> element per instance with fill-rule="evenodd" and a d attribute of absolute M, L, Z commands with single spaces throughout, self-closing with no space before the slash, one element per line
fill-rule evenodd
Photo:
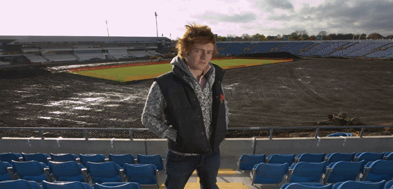
<path fill-rule="evenodd" d="M 178 49 L 178 56 L 184 57 L 188 54 L 194 44 L 208 44 L 214 45 L 213 56 L 217 54 L 217 44 L 215 44 L 215 35 L 211 28 L 206 25 L 188 24 L 185 25 L 185 33 L 183 38 L 178 40 L 176 49 Z"/>

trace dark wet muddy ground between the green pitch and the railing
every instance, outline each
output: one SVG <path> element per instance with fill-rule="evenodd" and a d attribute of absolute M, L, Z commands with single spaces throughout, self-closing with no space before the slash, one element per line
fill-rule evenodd
<path fill-rule="evenodd" d="M 153 80 L 117 83 L 46 69 L 0 70 L 1 127 L 143 128 L 141 112 Z M 393 124 L 393 62 L 296 59 L 226 70 L 224 92 L 230 127 L 316 126 L 327 115 L 346 113 L 364 125 Z M 330 124 L 337 126 L 337 124 Z M 360 129 L 321 130 L 358 134 Z M 0 131 L 2 137 L 39 137 L 35 131 Z M 393 129 L 364 135 L 392 135 Z M 275 131 L 275 137 L 312 136 Z M 83 138 L 77 131 L 45 131 L 45 137 Z M 88 133 L 128 138 L 127 131 Z M 268 131 L 229 131 L 228 138 L 268 137 Z M 133 138 L 157 138 L 147 131 Z"/>

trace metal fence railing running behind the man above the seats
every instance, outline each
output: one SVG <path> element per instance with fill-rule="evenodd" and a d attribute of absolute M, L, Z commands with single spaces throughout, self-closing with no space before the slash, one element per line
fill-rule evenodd
<path fill-rule="evenodd" d="M 229 131 L 236 131 L 236 130 L 245 130 L 245 131 L 264 131 L 268 130 L 270 131 L 269 134 L 269 139 L 273 138 L 273 132 L 274 130 L 293 130 L 293 129 L 300 129 L 300 130 L 309 130 L 309 129 L 315 129 L 315 138 L 319 137 L 319 131 L 321 129 L 362 129 L 359 133 L 358 136 L 354 137 L 359 137 L 362 138 L 364 131 L 366 129 L 378 129 L 378 128 L 393 128 L 393 125 L 367 125 L 367 126 L 272 126 L 272 127 L 229 127 Z M 130 140 L 132 140 L 132 132 L 141 132 L 141 131 L 150 131 L 149 129 L 146 128 L 59 128 L 59 127 L 0 127 L 0 131 L 4 130 L 33 130 L 33 131 L 38 131 L 40 134 L 40 138 L 42 140 L 45 140 L 44 133 L 43 131 L 81 131 L 84 133 L 84 138 L 85 140 L 88 140 L 88 133 L 87 131 L 128 131 L 130 134 Z M 0 133 L 0 139 L 2 139 L 1 133 Z"/>

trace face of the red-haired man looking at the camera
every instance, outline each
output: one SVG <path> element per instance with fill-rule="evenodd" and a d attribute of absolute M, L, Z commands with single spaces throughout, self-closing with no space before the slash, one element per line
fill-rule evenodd
<path fill-rule="evenodd" d="M 214 45 L 208 44 L 194 44 L 190 52 L 185 55 L 185 61 L 190 69 L 203 70 L 208 65 L 213 57 Z"/>

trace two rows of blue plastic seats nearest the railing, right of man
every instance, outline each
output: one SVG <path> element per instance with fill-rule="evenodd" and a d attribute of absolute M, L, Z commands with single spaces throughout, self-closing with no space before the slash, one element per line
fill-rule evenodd
<path fill-rule="evenodd" d="M 279 183 L 338 183 L 344 181 L 390 181 L 392 152 L 353 154 L 243 154 L 238 170 L 250 170 L 252 185 Z"/>

